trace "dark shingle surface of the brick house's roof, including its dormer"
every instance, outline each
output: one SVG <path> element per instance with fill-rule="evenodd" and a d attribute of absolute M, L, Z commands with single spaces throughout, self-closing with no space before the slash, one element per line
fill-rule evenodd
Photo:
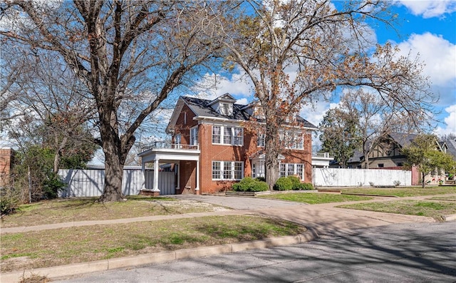
<path fill-rule="evenodd" d="M 242 104 L 233 103 L 232 115 L 222 115 L 218 113 L 216 110 L 214 110 L 214 108 L 209 106 L 209 103 L 211 103 L 212 101 L 189 96 L 182 96 L 181 98 L 185 101 L 185 103 L 187 103 L 187 106 L 189 106 L 190 109 L 192 109 L 192 111 L 197 116 L 209 118 L 226 118 L 232 120 L 249 120 L 251 117 L 251 115 L 249 115 L 249 113 L 247 113 L 247 111 L 245 110 L 245 106 Z M 317 127 L 314 124 L 310 123 L 308 120 L 302 118 L 299 115 L 297 116 L 297 120 L 300 123 L 302 123 L 306 128 L 317 129 Z"/>

